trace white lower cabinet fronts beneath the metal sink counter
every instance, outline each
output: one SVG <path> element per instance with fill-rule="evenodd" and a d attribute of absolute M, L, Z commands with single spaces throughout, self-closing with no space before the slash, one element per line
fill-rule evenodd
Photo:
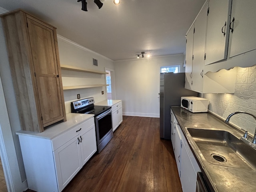
<path fill-rule="evenodd" d="M 174 128 L 175 136 L 174 141 L 172 141 L 172 145 L 174 148 L 174 155 L 178 167 L 182 191 L 194 192 L 196 191 L 197 172 L 201 172 L 201 170 L 175 117 L 174 124 L 176 126 Z"/>

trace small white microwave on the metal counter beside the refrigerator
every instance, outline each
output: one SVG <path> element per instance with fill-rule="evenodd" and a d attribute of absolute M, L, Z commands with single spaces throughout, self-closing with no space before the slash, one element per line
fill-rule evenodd
<path fill-rule="evenodd" d="M 180 106 L 181 108 L 184 108 L 193 113 L 207 112 L 208 99 L 194 97 L 194 96 L 181 97 Z"/>

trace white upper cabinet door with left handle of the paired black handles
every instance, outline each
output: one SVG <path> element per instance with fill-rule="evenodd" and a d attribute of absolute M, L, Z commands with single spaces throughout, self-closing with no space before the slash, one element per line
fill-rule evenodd
<path fill-rule="evenodd" d="M 229 1 L 230 0 L 209 1 L 205 65 L 227 58 L 230 20 Z"/>

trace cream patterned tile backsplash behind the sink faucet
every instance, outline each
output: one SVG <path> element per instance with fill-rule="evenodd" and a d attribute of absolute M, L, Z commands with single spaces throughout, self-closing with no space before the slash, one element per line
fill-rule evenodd
<path fill-rule="evenodd" d="M 208 110 L 226 119 L 235 111 L 249 112 L 256 116 L 256 66 L 237 68 L 234 94 L 202 94 L 210 101 Z M 236 114 L 230 123 L 254 135 L 256 120 L 248 114 Z"/>

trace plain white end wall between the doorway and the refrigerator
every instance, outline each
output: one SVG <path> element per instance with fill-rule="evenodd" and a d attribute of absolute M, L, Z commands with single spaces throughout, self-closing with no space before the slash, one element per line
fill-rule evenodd
<path fill-rule="evenodd" d="M 123 114 L 159 117 L 160 67 L 180 65 L 184 55 L 168 55 L 114 62 L 116 99 L 122 100 Z"/>

